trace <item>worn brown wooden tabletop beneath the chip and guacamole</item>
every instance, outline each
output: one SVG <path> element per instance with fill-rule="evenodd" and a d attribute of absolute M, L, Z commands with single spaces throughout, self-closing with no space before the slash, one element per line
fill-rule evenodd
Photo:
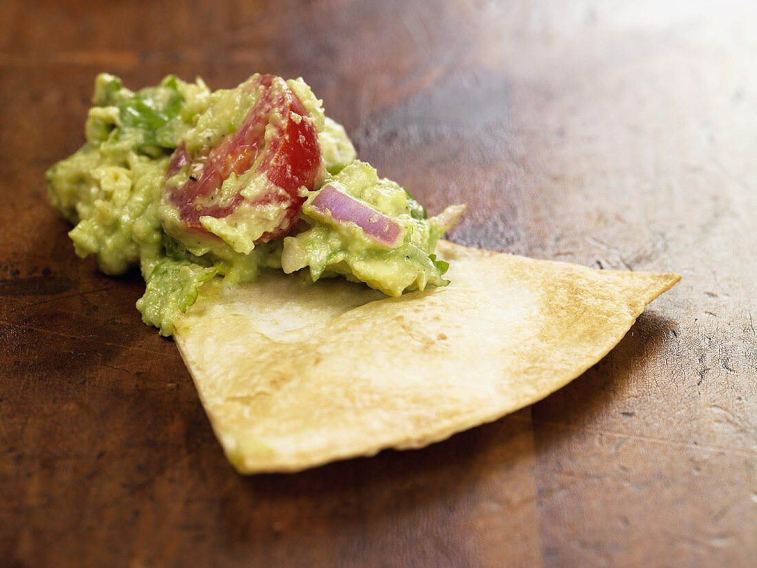
<path fill-rule="evenodd" d="M 715 0 L 0 2 L 2 564 L 749 565 L 755 26 Z M 45 200 L 101 70 L 302 75 L 382 175 L 469 203 L 453 240 L 684 281 L 531 408 L 238 476 L 139 278 L 76 259 Z"/>

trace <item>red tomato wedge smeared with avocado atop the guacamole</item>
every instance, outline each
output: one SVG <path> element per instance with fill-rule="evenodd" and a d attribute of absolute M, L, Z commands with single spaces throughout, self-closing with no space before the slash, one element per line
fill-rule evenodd
<path fill-rule="evenodd" d="M 179 212 L 182 228 L 210 233 L 201 225 L 202 216 L 217 219 L 229 216 L 245 200 L 240 193 L 211 203 L 229 175 L 241 175 L 255 168 L 254 175 L 265 176 L 264 191 L 249 200 L 252 206 L 279 206 L 276 228 L 255 241 L 263 243 L 287 234 L 297 223 L 305 198 L 298 194 L 303 186 L 312 190 L 321 165 L 318 132 L 313 120 L 286 83 L 273 75 L 260 75 L 251 88 L 262 87 L 260 96 L 236 132 L 227 135 L 210 152 L 191 156 L 182 141 L 171 157 L 167 180 L 186 166 L 190 178 L 184 185 L 165 185 L 164 197 Z M 266 129 L 269 138 L 266 143 Z M 239 188 L 241 191 L 241 188 Z"/>

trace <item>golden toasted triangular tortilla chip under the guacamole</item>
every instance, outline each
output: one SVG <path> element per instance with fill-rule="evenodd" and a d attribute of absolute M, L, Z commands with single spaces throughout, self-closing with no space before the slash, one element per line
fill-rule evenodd
<path fill-rule="evenodd" d="M 176 343 L 241 473 L 419 448 L 497 420 L 599 361 L 680 280 L 444 241 L 438 253 L 443 288 L 388 298 L 271 272 L 189 310 Z"/>

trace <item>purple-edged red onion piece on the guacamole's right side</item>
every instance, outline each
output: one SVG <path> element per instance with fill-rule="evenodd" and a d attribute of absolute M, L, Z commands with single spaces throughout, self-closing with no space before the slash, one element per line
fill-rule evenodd
<path fill-rule="evenodd" d="M 402 225 L 378 210 L 344 193 L 334 183 L 324 185 L 310 206 L 316 213 L 337 224 L 354 223 L 372 241 L 385 247 L 399 247 L 405 237 Z"/>

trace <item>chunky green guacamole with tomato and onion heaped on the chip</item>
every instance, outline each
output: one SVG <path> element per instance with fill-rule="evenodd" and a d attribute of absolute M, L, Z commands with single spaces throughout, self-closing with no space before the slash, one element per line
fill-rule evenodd
<path fill-rule="evenodd" d="M 210 91 L 167 76 L 132 92 L 95 79 L 86 144 L 47 174 L 76 254 L 109 275 L 139 265 L 145 324 L 171 335 L 204 283 L 260 269 L 344 276 L 399 296 L 444 286 L 434 250 L 465 206 L 428 217 L 357 160 L 302 79 Z"/>

